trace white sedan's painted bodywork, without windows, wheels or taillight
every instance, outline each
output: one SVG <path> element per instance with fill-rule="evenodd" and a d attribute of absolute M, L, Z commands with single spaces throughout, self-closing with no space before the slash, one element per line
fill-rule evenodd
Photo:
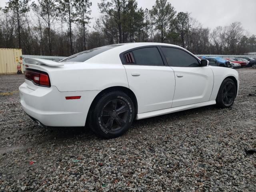
<path fill-rule="evenodd" d="M 46 126 L 84 126 L 94 98 L 102 90 L 113 86 L 122 86 L 134 92 L 138 102 L 137 119 L 215 104 L 220 85 L 228 76 L 236 78 L 239 88 L 238 72 L 230 68 L 122 64 L 120 53 L 152 45 L 170 46 L 130 43 L 98 54 L 85 62 L 60 65 L 52 61 L 48 63 L 48 60 L 37 60 L 39 64 L 26 64 L 28 68 L 47 72 L 51 87 L 36 86 L 26 80 L 19 88 L 22 108 Z M 177 74 L 183 77 L 177 77 Z M 66 96 L 81 98 L 66 100 Z"/>

